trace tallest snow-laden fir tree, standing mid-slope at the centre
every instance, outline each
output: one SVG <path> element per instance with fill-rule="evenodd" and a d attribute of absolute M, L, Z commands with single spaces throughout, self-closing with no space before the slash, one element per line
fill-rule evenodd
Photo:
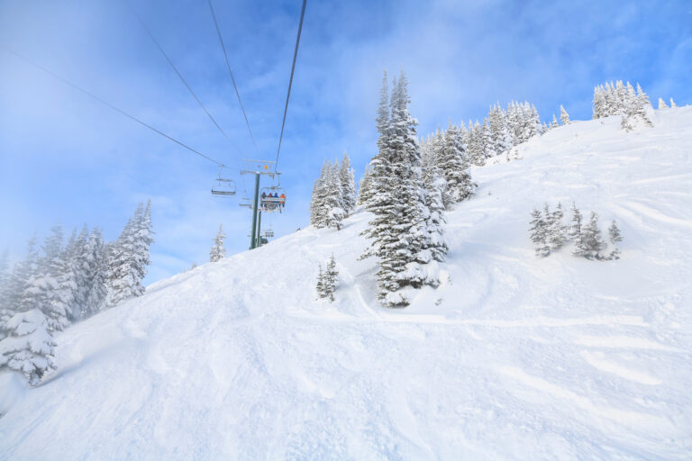
<path fill-rule="evenodd" d="M 410 302 L 409 289 L 438 283 L 422 266 L 431 253 L 425 248 L 429 211 L 415 132 L 417 122 L 408 112 L 407 86 L 402 72 L 395 80 L 388 111 L 386 81 L 380 94 L 379 152 L 373 159 L 376 191 L 368 207 L 374 217 L 365 232 L 373 240 L 369 254 L 379 258 L 378 298 L 387 306 L 401 307 Z"/>

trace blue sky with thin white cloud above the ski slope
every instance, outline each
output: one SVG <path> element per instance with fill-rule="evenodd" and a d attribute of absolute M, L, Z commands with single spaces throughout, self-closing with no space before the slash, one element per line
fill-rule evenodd
<path fill-rule="evenodd" d="M 580 5 L 573 5 L 573 4 Z M 300 1 L 214 2 L 262 158 L 276 156 Z M 231 166 L 256 158 L 204 0 L 132 2 L 232 142 L 216 131 L 124 2 L 0 0 L 0 44 Z M 591 115 L 593 86 L 623 79 L 692 103 L 692 4 L 669 2 L 310 1 L 281 150 L 287 208 L 277 236 L 308 224 L 324 158 L 348 150 L 357 176 L 375 153 L 382 70 L 403 68 L 428 133 L 489 104 L 563 104 Z M 0 249 L 56 222 L 117 238 L 151 198 L 148 282 L 204 263 L 219 223 L 248 247 L 250 212 L 209 194 L 217 169 L 0 50 Z M 250 188 L 250 178 L 245 182 Z M 269 221 L 269 220 L 265 220 Z"/>

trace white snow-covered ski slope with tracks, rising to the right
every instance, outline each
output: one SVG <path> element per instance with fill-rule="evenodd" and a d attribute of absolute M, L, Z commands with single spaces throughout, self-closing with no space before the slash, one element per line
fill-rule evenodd
<path fill-rule="evenodd" d="M 2 376 L 0 458 L 689 459 L 692 107 L 654 122 L 476 168 L 442 286 L 404 310 L 357 260 L 366 212 L 150 286 L 60 334 L 40 387 Z M 617 220 L 622 259 L 535 258 L 529 214 L 558 200 Z"/>

